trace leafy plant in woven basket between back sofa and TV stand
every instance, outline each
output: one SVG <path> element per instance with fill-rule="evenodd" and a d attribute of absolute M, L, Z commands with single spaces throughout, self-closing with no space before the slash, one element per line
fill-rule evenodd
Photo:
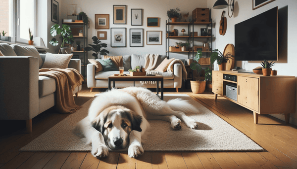
<path fill-rule="evenodd" d="M 205 85 L 206 81 L 204 79 L 200 79 L 200 71 L 202 70 L 202 67 L 200 64 L 198 64 L 199 59 L 201 58 L 202 51 L 198 50 L 196 56 L 194 57 L 194 61 L 191 65 L 190 68 L 193 70 L 196 70 L 198 74 L 198 78 L 196 80 L 191 80 L 191 89 L 193 93 L 199 94 L 203 93 L 205 91 Z"/>

